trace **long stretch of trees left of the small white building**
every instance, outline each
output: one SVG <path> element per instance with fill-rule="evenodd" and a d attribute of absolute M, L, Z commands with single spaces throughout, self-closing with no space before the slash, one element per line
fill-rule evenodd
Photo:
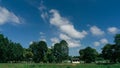
<path fill-rule="evenodd" d="M 65 40 L 48 48 L 45 41 L 35 41 L 29 48 L 23 48 L 20 43 L 14 43 L 3 34 L 0 34 L 0 62 L 35 62 L 61 63 L 68 60 L 69 48 Z"/>

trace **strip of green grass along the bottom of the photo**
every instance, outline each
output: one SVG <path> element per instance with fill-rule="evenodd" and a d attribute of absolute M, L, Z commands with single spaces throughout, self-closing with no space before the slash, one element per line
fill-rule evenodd
<path fill-rule="evenodd" d="M 120 68 L 120 64 L 97 65 L 97 64 L 20 64 L 2 63 L 0 68 Z"/>

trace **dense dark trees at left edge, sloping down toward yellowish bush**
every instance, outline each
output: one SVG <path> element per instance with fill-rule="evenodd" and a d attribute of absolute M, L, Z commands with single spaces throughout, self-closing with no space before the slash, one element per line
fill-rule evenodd
<path fill-rule="evenodd" d="M 0 62 L 21 61 L 23 48 L 19 43 L 14 43 L 0 34 Z"/>

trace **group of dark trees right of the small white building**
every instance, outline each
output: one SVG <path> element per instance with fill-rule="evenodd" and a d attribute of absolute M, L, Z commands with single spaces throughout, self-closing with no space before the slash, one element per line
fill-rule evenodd
<path fill-rule="evenodd" d="M 101 53 L 91 47 L 79 50 L 80 60 L 85 61 L 85 63 L 105 60 L 105 63 L 120 63 L 120 34 L 115 35 L 114 42 L 115 44 L 106 44 Z"/>

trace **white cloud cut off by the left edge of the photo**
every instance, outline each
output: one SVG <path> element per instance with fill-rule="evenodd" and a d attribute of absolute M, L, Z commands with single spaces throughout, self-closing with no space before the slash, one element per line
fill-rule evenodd
<path fill-rule="evenodd" d="M 6 8 L 0 7 L 0 25 L 7 22 L 20 24 L 20 19 L 14 13 L 8 11 Z"/>

